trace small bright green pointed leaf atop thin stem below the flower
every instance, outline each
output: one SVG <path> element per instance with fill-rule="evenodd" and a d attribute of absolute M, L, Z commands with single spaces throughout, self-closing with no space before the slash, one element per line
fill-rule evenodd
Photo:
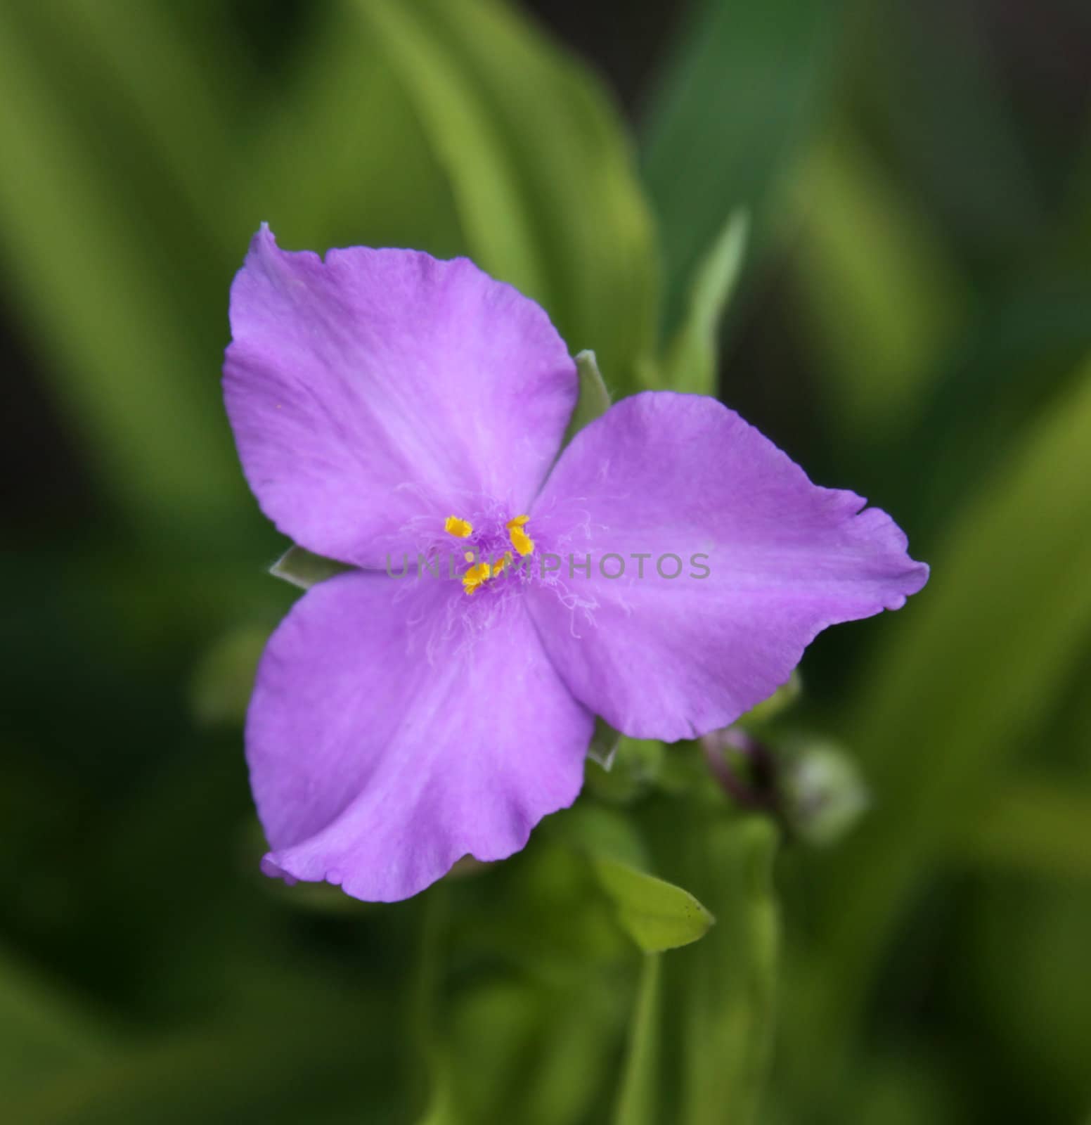
<path fill-rule="evenodd" d="M 603 856 L 592 860 L 617 920 L 644 953 L 660 953 L 704 937 L 715 921 L 688 892 Z"/>

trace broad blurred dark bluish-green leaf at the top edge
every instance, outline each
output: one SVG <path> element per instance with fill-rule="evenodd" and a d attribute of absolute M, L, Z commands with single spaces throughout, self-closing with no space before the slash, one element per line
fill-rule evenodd
<path fill-rule="evenodd" d="M 776 188 L 820 119 L 842 0 L 692 6 L 652 101 L 644 180 L 662 231 L 666 327 L 729 215 L 747 208 L 763 235 Z"/>

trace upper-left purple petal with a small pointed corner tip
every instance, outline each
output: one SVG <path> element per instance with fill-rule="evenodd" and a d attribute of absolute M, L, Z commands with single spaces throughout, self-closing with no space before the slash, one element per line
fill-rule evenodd
<path fill-rule="evenodd" d="M 576 403 L 549 317 L 466 259 L 286 253 L 267 227 L 231 292 L 224 396 L 262 510 L 360 566 L 467 498 L 525 511 Z"/>

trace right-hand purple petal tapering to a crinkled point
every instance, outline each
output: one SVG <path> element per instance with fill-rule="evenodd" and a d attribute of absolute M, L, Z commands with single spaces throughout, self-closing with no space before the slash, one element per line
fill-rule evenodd
<path fill-rule="evenodd" d="M 572 694 L 626 735 L 724 727 L 827 626 L 896 610 L 927 582 L 899 528 L 865 503 L 812 485 L 714 399 L 624 399 L 576 435 L 531 512 L 565 556 L 530 594 L 546 649 Z M 568 559 L 586 552 L 589 578 Z M 607 552 L 625 559 L 622 577 L 603 577 Z M 650 556 L 643 578 L 637 554 Z"/>

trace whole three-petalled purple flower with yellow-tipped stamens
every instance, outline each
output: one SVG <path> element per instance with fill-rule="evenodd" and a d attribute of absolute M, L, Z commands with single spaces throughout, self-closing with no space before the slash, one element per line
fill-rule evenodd
<path fill-rule="evenodd" d="M 890 516 L 714 399 L 635 395 L 560 452 L 568 349 L 465 259 L 323 261 L 262 227 L 231 323 L 251 488 L 357 568 L 296 603 L 258 672 L 268 874 L 389 901 L 504 858 L 575 800 L 596 714 L 668 741 L 725 727 L 827 626 L 927 580 Z"/>

